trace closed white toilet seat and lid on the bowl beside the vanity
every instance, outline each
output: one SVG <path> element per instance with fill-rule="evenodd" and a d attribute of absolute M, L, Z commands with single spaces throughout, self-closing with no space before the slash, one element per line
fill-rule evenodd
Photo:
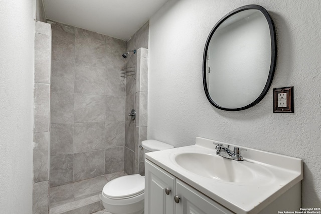
<path fill-rule="evenodd" d="M 102 194 L 110 199 L 125 199 L 144 192 L 145 178 L 140 174 L 126 175 L 109 181 Z"/>

